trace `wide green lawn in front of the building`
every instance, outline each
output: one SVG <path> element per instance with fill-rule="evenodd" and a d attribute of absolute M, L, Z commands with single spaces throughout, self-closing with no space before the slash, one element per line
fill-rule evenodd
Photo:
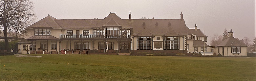
<path fill-rule="evenodd" d="M 0 56 L 0 81 L 256 81 L 255 57 L 36 56 Z"/>

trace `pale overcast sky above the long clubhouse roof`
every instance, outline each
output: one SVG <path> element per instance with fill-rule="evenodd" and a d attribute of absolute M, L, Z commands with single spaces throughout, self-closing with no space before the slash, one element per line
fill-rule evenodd
<path fill-rule="evenodd" d="M 254 0 L 31 0 L 34 3 L 35 22 L 48 14 L 57 19 L 104 19 L 116 12 L 121 19 L 146 17 L 149 19 L 180 19 L 181 11 L 186 26 L 205 32 L 208 41 L 224 28 L 233 29 L 240 40 L 255 34 Z M 209 42 L 207 42 L 209 43 Z"/>

